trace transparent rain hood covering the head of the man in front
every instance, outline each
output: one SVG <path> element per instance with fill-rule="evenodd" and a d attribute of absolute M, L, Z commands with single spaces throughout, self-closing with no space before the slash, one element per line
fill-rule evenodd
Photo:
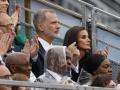
<path fill-rule="evenodd" d="M 65 46 L 53 46 L 45 55 L 45 72 L 50 70 L 61 76 L 70 74 L 71 56 Z"/>

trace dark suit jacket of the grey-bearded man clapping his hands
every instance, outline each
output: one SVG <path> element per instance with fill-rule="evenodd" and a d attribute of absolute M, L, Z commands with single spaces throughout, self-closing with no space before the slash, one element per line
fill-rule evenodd
<path fill-rule="evenodd" d="M 38 51 L 38 58 L 36 62 L 31 59 L 32 63 L 32 72 L 34 73 L 35 77 L 38 78 L 40 75 L 44 73 L 44 55 L 45 50 L 42 47 L 41 43 L 39 42 L 39 51 Z"/>

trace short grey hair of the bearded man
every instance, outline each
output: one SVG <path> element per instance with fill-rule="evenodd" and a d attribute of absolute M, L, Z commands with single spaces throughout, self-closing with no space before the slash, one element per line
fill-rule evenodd
<path fill-rule="evenodd" d="M 34 14 L 33 24 L 34 24 L 36 30 L 38 27 L 37 25 L 46 19 L 47 12 L 55 13 L 55 11 L 53 9 L 41 9 Z"/>

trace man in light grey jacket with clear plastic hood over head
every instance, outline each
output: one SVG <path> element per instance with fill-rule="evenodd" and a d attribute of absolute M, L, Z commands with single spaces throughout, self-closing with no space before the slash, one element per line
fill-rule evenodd
<path fill-rule="evenodd" d="M 70 79 L 71 59 L 72 55 L 65 46 L 53 46 L 45 54 L 45 73 L 36 81 L 74 85 Z"/>

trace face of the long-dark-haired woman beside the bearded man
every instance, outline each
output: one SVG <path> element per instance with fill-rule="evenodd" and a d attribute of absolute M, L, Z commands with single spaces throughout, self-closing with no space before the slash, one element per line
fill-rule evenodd
<path fill-rule="evenodd" d="M 82 30 L 79 32 L 77 43 L 79 49 L 83 50 L 91 49 L 89 35 L 86 30 Z"/>

